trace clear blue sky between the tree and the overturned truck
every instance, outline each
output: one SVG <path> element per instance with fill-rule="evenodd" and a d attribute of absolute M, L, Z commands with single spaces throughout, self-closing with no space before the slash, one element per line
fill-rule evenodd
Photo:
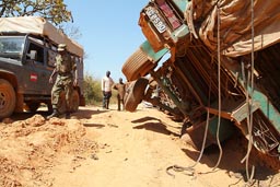
<path fill-rule="evenodd" d="M 101 79 L 109 70 L 117 81 L 125 79 L 121 67 L 145 38 L 138 25 L 141 9 L 149 0 L 65 0 L 73 25 L 82 36 L 84 72 Z"/>

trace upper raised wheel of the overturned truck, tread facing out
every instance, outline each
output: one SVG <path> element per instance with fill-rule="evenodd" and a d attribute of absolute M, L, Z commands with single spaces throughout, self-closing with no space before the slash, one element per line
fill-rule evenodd
<path fill-rule="evenodd" d="M 139 48 L 127 59 L 121 71 L 128 81 L 135 81 L 147 75 L 155 66 L 156 63 L 149 60 L 148 56 Z"/>

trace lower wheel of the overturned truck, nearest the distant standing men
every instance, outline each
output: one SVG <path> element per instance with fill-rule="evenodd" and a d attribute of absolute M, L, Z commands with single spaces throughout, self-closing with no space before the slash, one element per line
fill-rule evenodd
<path fill-rule="evenodd" d="M 144 91 L 149 81 L 144 78 L 140 78 L 137 81 L 130 83 L 125 95 L 125 108 L 128 112 L 135 112 L 137 106 L 144 97 Z"/>

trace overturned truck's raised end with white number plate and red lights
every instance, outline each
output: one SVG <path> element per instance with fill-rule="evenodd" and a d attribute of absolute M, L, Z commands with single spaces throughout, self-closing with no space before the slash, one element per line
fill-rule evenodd
<path fill-rule="evenodd" d="M 184 43 L 189 33 L 183 14 L 187 3 L 184 0 L 153 0 L 141 10 L 138 24 L 154 51 L 168 48 L 174 52 L 174 47 Z"/>

